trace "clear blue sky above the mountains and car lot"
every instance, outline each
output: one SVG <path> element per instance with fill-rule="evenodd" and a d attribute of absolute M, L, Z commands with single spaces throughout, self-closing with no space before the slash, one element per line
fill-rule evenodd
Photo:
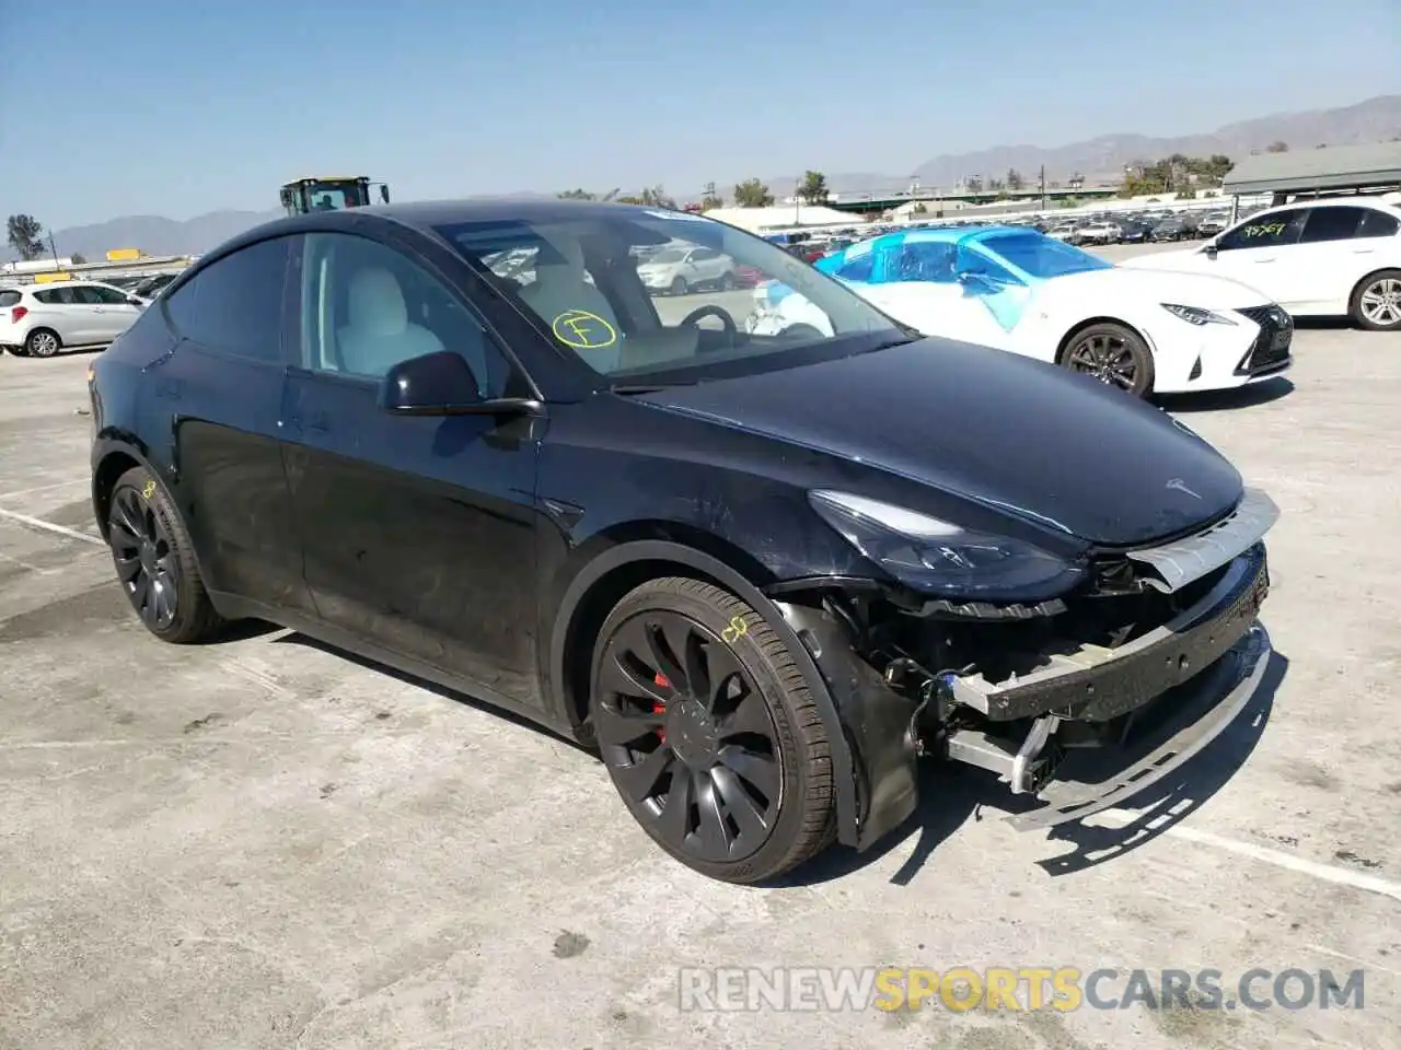
<path fill-rule="evenodd" d="M 53 228 L 272 210 L 301 174 L 366 174 L 405 200 L 904 175 L 1401 90 L 1398 0 L 3 8 L 0 211 Z M 888 27 L 862 21 L 880 11 Z"/>

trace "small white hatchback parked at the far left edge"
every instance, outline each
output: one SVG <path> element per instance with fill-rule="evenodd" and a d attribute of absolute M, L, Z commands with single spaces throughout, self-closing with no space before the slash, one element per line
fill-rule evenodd
<path fill-rule="evenodd" d="M 99 281 L 0 288 L 0 347 L 17 357 L 101 347 L 140 316 L 146 300 Z"/>

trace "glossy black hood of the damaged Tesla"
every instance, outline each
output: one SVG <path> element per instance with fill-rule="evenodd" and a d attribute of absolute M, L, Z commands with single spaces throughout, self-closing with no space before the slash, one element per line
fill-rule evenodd
<path fill-rule="evenodd" d="M 1216 449 L 1140 399 L 943 339 L 643 400 L 859 459 L 1101 546 L 1189 532 L 1243 494 Z"/>

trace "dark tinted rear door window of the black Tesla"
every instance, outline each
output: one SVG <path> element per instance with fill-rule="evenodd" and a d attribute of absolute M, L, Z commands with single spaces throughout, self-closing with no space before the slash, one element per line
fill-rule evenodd
<path fill-rule="evenodd" d="M 290 245 L 287 237 L 259 241 L 196 273 L 165 300 L 175 329 L 213 350 L 280 361 Z"/>

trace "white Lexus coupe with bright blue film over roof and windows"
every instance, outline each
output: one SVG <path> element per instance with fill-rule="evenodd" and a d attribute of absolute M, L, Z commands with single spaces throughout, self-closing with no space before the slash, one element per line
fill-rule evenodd
<path fill-rule="evenodd" d="M 1254 288 L 1118 267 L 1024 227 L 888 234 L 815 265 L 925 335 L 1061 364 L 1139 396 L 1244 386 L 1293 364 L 1293 322 Z M 821 328 L 811 314 L 786 286 L 761 286 L 748 328 Z"/>

